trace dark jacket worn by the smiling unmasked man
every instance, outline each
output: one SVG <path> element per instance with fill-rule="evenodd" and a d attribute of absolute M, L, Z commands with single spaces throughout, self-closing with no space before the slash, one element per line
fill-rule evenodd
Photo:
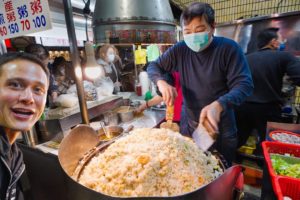
<path fill-rule="evenodd" d="M 10 145 L 0 126 L 0 200 L 22 200 L 19 180 L 25 170 L 22 152 L 14 143 Z"/>

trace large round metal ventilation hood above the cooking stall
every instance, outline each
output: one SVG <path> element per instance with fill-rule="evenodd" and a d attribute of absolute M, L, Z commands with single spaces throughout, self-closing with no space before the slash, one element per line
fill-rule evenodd
<path fill-rule="evenodd" d="M 169 0 L 97 0 L 93 14 L 96 43 L 175 43 Z"/>

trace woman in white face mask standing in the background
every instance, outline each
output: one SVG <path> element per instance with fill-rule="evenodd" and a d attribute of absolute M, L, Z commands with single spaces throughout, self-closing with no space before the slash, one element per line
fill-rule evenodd
<path fill-rule="evenodd" d="M 98 47 L 96 51 L 97 63 L 102 65 L 105 75 L 109 76 L 114 83 L 114 93 L 121 90 L 121 66 L 122 62 L 115 46 L 106 44 Z"/>

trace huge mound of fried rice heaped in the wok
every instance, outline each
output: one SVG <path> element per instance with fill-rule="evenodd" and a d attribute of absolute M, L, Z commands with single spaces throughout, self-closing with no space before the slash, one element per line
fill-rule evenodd
<path fill-rule="evenodd" d="M 79 183 L 120 197 L 176 196 L 194 191 L 222 171 L 187 137 L 169 129 L 135 129 L 95 156 Z"/>

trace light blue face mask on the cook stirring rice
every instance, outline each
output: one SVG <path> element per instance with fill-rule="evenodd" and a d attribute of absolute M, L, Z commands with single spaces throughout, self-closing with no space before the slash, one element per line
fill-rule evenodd
<path fill-rule="evenodd" d="M 183 35 L 185 44 L 195 52 L 202 51 L 208 46 L 208 32 L 191 33 Z"/>

